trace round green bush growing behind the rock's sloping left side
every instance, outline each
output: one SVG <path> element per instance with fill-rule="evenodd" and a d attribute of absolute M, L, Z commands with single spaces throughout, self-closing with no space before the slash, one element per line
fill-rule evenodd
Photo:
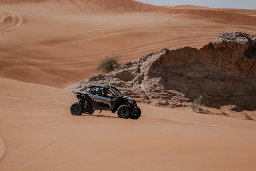
<path fill-rule="evenodd" d="M 118 55 L 106 56 L 98 65 L 97 70 L 102 71 L 103 73 L 109 73 L 114 69 L 120 67 Z"/>

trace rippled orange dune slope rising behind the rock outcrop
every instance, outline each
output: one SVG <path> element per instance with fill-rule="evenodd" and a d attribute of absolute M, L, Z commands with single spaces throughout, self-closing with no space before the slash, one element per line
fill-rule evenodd
<path fill-rule="evenodd" d="M 247 15 L 130 0 L 17 2 L 0 4 L 2 14 L 15 13 L 8 20 L 1 15 L 1 32 L 16 28 L 1 33 L 0 77 L 61 88 L 96 74 L 106 55 L 125 62 L 161 48 L 200 48 L 222 31 L 256 32 L 255 10 Z"/>

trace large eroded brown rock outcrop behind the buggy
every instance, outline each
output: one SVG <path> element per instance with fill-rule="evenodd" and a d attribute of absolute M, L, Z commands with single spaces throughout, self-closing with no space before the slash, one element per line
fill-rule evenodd
<path fill-rule="evenodd" d="M 207 106 L 256 105 L 256 36 L 223 32 L 200 50 L 162 49 L 127 62 L 115 71 L 68 87 L 108 83 L 143 102 L 186 106 L 203 96 Z"/>

